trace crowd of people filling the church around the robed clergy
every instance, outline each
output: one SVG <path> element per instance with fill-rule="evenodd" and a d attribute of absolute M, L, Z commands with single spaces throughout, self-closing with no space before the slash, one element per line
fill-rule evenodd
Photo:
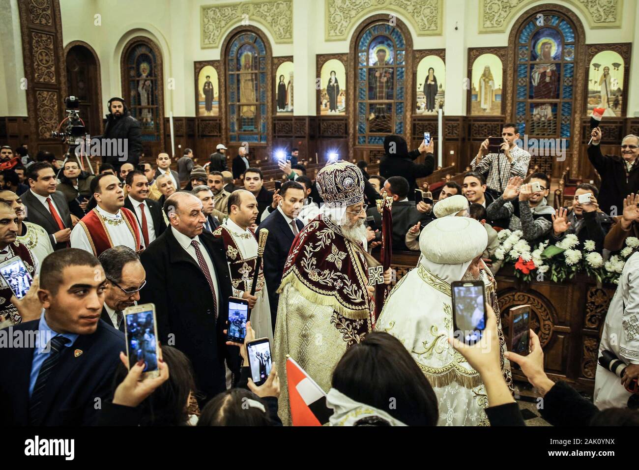
<path fill-rule="evenodd" d="M 325 392 L 330 425 L 524 425 L 511 363 L 544 396 L 550 423 L 639 423 L 623 409 L 630 393 L 612 372 L 597 370 L 596 407 L 548 379 L 533 331 L 527 356 L 507 351 L 494 278 L 497 233 L 506 228 L 531 244 L 574 234 L 604 256 L 639 236 L 639 137 L 624 139 L 620 157 L 604 156 L 593 130 L 588 155 L 601 185 L 578 185 L 572 205 L 555 211 L 551 180 L 528 171 L 512 123 L 498 153 L 481 144 L 462 184 L 449 180 L 438 200 L 415 201 L 417 179 L 435 169 L 433 141 L 409 152 L 403 137 L 388 136 L 380 175 L 366 162 L 337 161 L 314 180 L 293 149 L 279 163 L 281 186 L 269 191 L 247 146 L 231 161 L 220 143 L 204 166 L 187 148 L 178 171 L 168 153 L 155 166 L 140 162 L 139 123 L 122 98 L 109 111 L 104 135 L 134 145 L 125 162 L 103 157 L 95 175 L 74 158 L 0 148 L 13 162 L 0 173 L 0 262 L 17 256 L 33 277 L 20 299 L 3 283 L 0 327 L 47 338 L 0 347 L 3 424 L 290 425 L 288 357 Z M 374 256 L 384 197 L 392 199 L 387 242 L 421 256 L 382 307 L 374 292 L 392 281 Z M 626 386 L 639 376 L 638 263 L 629 256 L 602 339 L 627 364 Z M 452 338 L 450 285 L 462 280 L 481 281 L 486 292 L 486 329 L 474 345 Z M 234 324 L 245 333 L 238 343 L 227 337 L 234 298 L 251 312 Z M 147 303 L 155 324 L 149 315 L 128 324 L 126 309 Z M 611 345 L 612 335 L 626 339 Z M 256 338 L 271 347 L 260 385 L 247 356 Z M 158 373 L 143 375 L 150 366 Z"/>

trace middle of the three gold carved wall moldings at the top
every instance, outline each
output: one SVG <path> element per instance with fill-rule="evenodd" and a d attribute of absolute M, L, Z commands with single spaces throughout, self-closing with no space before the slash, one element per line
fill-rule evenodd
<path fill-rule="evenodd" d="M 325 40 L 346 40 L 356 24 L 381 9 L 401 14 L 417 36 L 442 35 L 443 0 L 325 0 Z"/>

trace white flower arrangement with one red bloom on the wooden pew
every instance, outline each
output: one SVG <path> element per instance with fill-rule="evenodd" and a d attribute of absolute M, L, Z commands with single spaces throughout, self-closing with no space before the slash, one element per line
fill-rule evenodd
<path fill-rule="evenodd" d="M 515 275 L 524 281 L 531 281 L 533 277 L 539 279 L 539 274 L 548 275 L 553 282 L 572 279 L 578 272 L 585 272 L 594 276 L 599 282 L 619 282 L 619 275 L 624 269 L 627 258 L 639 246 L 639 239 L 628 237 L 626 246 L 616 255 L 604 261 L 603 256 L 595 251 L 595 242 L 586 240 L 583 253 L 575 249 L 579 239 L 570 233 L 557 244 L 551 245 L 550 240 L 537 244 L 530 244 L 521 236 L 521 230 L 502 230 L 498 233 L 500 247 L 495 251 L 495 258 L 503 260 L 504 264 L 512 264 Z M 546 274 L 548 273 L 548 274 Z"/>

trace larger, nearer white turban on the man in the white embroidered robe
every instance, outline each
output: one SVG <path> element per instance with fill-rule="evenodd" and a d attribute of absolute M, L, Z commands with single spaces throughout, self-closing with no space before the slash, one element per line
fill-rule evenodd
<path fill-rule="evenodd" d="M 447 283 L 461 281 L 472 260 L 484 253 L 486 245 L 488 233 L 475 219 L 435 219 L 419 236 L 420 263 Z"/>

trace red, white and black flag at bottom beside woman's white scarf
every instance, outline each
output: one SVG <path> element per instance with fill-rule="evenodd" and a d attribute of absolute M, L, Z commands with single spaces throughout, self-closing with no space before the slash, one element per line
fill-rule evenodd
<path fill-rule="evenodd" d="M 333 410 L 326 405 L 326 393 L 291 357 L 286 359 L 286 379 L 293 426 L 328 423 Z"/>

